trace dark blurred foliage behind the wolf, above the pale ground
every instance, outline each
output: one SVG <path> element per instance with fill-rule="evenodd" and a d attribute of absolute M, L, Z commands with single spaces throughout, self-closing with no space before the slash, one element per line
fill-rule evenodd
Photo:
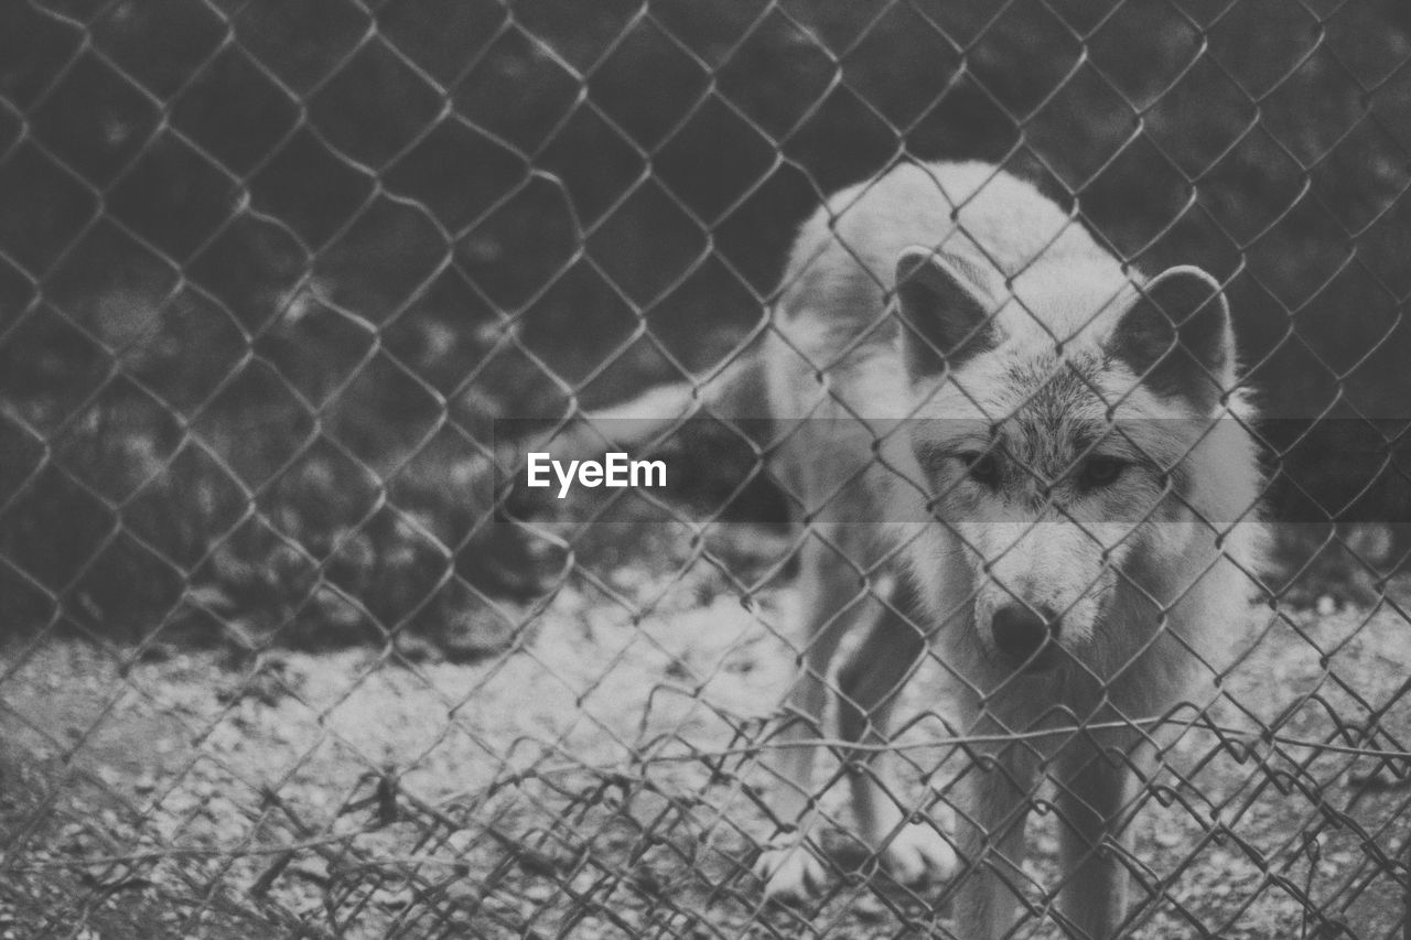
<path fill-rule="evenodd" d="M 904 157 L 1226 279 L 1326 418 L 1278 511 L 1398 521 L 1408 61 L 1401 0 L 0 4 L 4 629 L 502 646 L 566 562 L 492 422 L 707 374 Z"/>

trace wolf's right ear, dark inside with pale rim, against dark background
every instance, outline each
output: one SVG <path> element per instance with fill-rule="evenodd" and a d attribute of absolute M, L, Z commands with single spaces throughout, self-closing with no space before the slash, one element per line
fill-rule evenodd
<path fill-rule="evenodd" d="M 1140 289 L 1108 350 L 1157 394 L 1213 406 L 1235 384 L 1235 332 L 1221 282 L 1181 265 Z"/>

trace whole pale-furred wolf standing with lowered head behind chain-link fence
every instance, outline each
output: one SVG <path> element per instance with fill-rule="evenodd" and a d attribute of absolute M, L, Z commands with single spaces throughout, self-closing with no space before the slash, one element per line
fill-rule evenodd
<path fill-rule="evenodd" d="M 1221 282 L 1141 275 L 998 167 L 903 162 L 803 224 L 776 298 L 761 356 L 775 474 L 807 522 L 807 644 L 766 749 L 765 895 L 825 879 L 809 741 L 835 696 L 859 838 L 897 881 L 951 879 L 958 936 L 1019 923 L 1041 778 L 1053 916 L 1113 936 L 1170 734 L 1150 720 L 1215 694 L 1261 542 Z M 909 812 L 886 747 L 928 653 L 974 757 L 955 831 Z"/>

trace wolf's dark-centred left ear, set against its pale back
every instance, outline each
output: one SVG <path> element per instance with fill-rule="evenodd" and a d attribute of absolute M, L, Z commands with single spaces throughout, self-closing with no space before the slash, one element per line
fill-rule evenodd
<path fill-rule="evenodd" d="M 902 351 L 912 378 L 935 375 L 995 347 L 979 272 L 961 258 L 912 247 L 896 263 Z"/>

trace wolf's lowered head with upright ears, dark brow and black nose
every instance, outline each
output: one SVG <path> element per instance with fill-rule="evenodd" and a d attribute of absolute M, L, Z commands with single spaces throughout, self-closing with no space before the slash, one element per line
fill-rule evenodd
<path fill-rule="evenodd" d="M 1247 452 L 1211 440 L 1236 380 L 1221 285 L 1194 267 L 1134 281 L 1091 254 L 1006 278 L 910 248 L 897 301 L 910 445 L 968 562 L 981 646 L 1024 670 L 1139 651 L 1188 587 L 1163 569 L 1199 577 L 1192 546 L 1208 555 L 1222 525 L 1206 517 L 1250 498 Z M 1229 460 L 1243 476 L 1216 478 Z"/>

